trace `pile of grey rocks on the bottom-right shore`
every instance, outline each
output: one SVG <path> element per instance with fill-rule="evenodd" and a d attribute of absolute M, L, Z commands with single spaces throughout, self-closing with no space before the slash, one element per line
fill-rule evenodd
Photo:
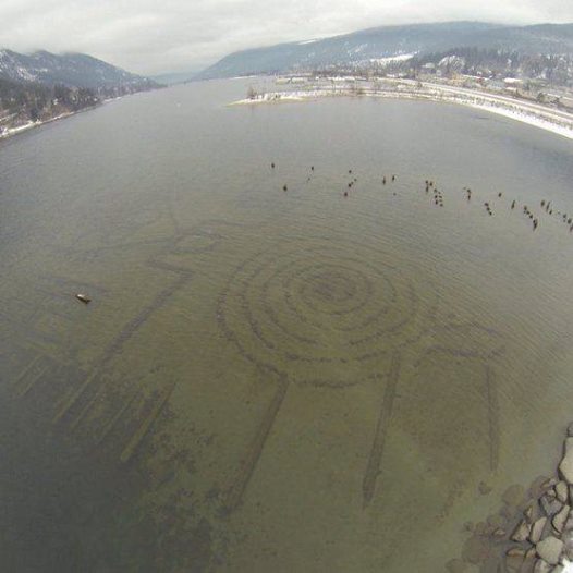
<path fill-rule="evenodd" d="M 487 495 L 487 485 L 480 485 Z M 476 525 L 450 573 L 573 573 L 573 424 L 553 475 L 538 477 L 527 490 L 509 487 L 502 509 Z"/>

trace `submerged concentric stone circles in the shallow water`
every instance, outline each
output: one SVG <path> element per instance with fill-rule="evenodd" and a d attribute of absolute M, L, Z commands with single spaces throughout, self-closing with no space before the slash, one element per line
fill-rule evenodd
<path fill-rule="evenodd" d="M 344 387 L 383 374 L 389 353 L 434 322 L 436 297 L 381 249 L 283 240 L 233 272 L 219 325 L 251 362 L 298 383 Z M 428 285 L 429 288 L 429 285 Z"/>

